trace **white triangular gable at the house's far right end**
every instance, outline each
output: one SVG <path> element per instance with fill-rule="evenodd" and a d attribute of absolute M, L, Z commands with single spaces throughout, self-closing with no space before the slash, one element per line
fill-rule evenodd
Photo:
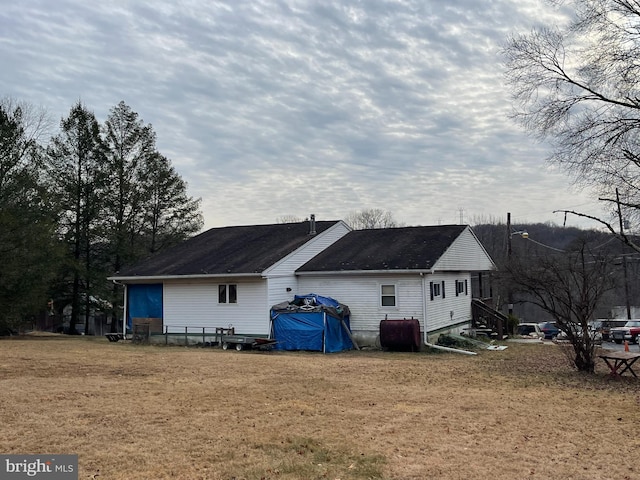
<path fill-rule="evenodd" d="M 454 240 L 435 265 L 437 271 L 489 271 L 495 268 L 491 257 L 470 228 Z"/>

